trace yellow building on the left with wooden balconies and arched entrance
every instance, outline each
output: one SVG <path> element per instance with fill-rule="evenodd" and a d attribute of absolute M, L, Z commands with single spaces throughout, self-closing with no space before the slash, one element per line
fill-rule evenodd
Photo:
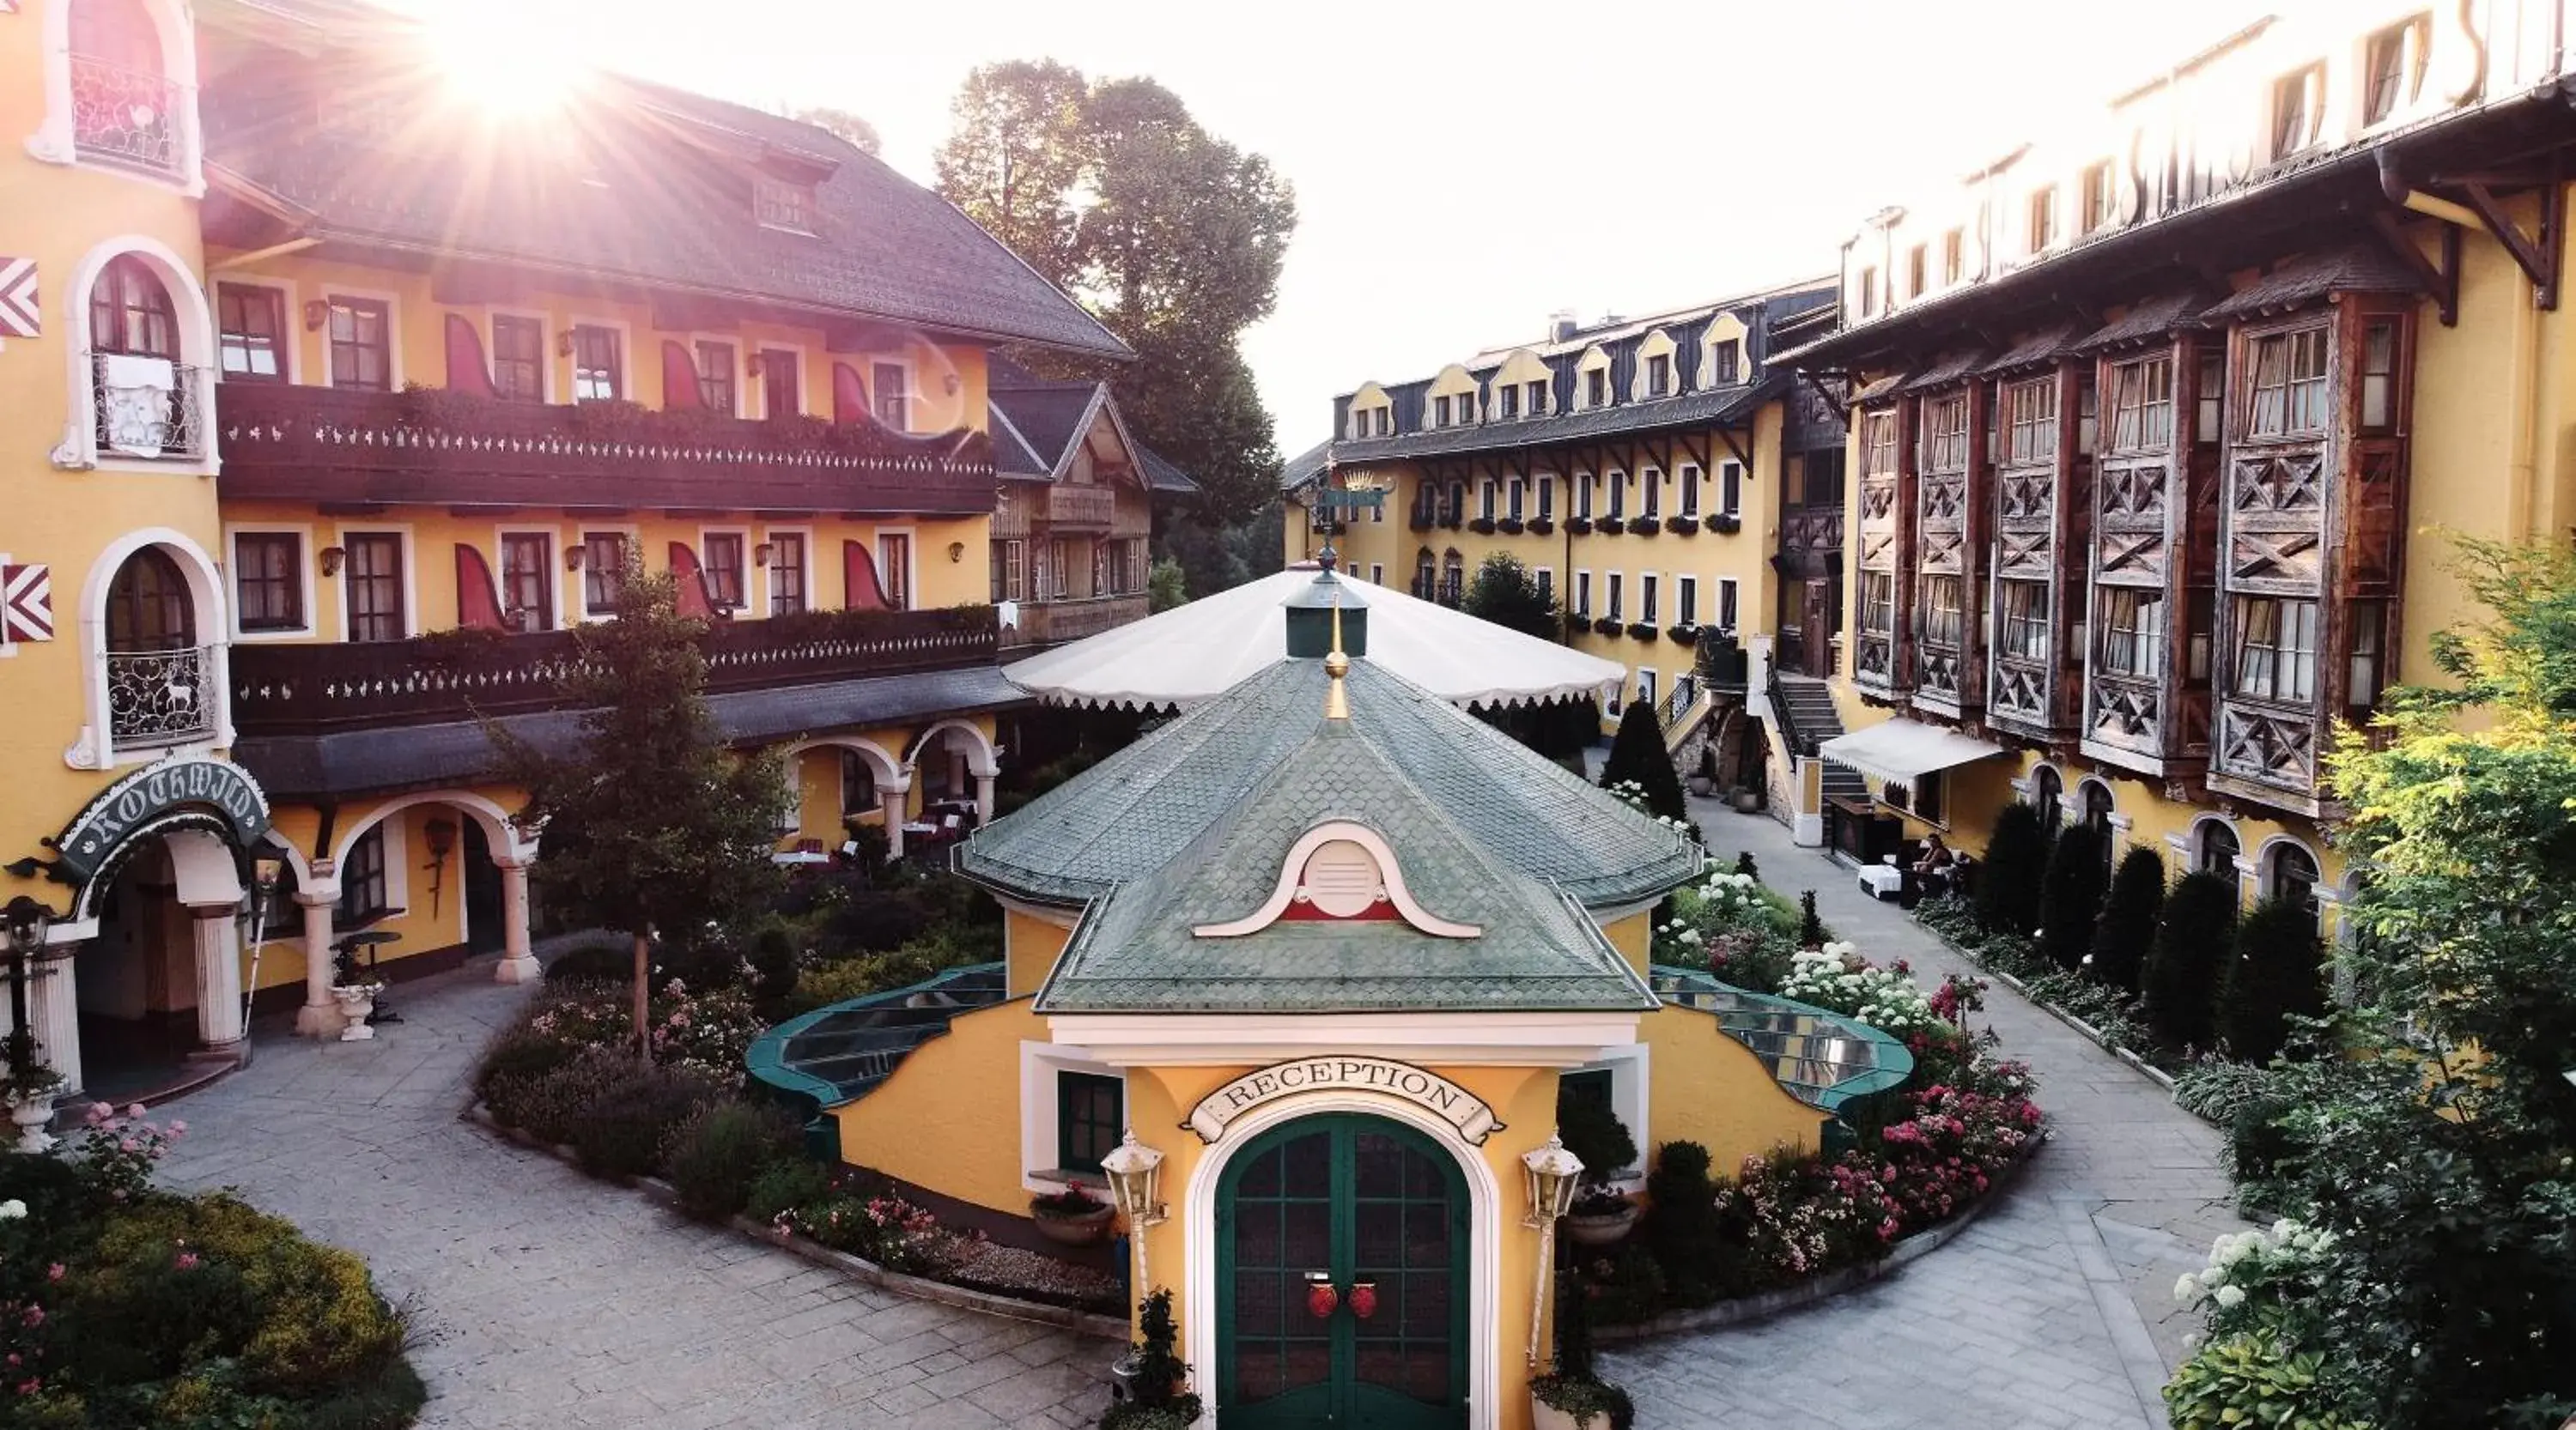
<path fill-rule="evenodd" d="M 783 853 L 989 809 L 987 353 L 1121 343 L 822 129 L 603 75 L 500 111 L 425 54 L 322 0 L 0 5 L 0 897 L 54 912 L 75 1087 L 227 1064 L 245 992 L 337 1031 L 361 928 L 531 977 L 477 721 L 569 729 L 629 546 L 793 752 Z"/>

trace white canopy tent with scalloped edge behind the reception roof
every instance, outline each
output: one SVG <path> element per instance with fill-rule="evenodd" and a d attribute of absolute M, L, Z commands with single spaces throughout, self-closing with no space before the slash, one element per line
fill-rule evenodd
<path fill-rule="evenodd" d="M 1100 631 L 1002 667 L 1002 675 L 1059 706 L 1193 706 L 1288 657 L 1291 595 L 1314 585 L 1316 567 L 1288 567 L 1234 590 Z M 1628 670 L 1556 642 L 1507 631 L 1360 580 L 1342 600 L 1368 605 L 1368 660 L 1455 706 L 1520 706 L 1602 696 Z"/>

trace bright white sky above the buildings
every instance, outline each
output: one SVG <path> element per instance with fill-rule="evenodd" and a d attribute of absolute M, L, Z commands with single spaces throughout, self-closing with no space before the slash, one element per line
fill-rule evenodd
<path fill-rule="evenodd" d="M 1479 348 L 1826 273 L 1857 222 L 2161 70 L 2262 0 L 399 0 L 582 62 L 868 116 L 930 183 L 969 70 L 1151 75 L 1298 198 L 1247 335 L 1280 453 Z M 711 23 L 716 21 L 716 23 Z"/>

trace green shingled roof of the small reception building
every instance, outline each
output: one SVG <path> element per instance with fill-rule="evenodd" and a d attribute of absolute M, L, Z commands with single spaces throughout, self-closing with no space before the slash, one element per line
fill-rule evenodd
<path fill-rule="evenodd" d="M 974 835 L 969 876 L 1087 904 L 1041 1013 L 1656 1007 L 1587 907 L 1692 879 L 1695 843 L 1365 660 L 1350 721 L 1321 719 L 1324 685 L 1321 662 L 1283 660 Z M 1479 933 L 1193 933 L 1257 912 L 1332 819 L 1383 837 L 1412 897 Z"/>

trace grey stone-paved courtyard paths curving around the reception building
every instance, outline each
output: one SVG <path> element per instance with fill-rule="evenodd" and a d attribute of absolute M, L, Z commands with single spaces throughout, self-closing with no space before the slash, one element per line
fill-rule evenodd
<path fill-rule="evenodd" d="M 1955 961 L 1765 817 L 1705 804 L 1710 848 L 1814 886 L 1844 938 Z M 258 1062 L 178 1103 L 167 1175 L 237 1185 L 368 1257 L 412 1306 L 425 1427 L 1090 1425 L 1113 1348 L 850 1286 L 693 1226 L 459 1121 L 474 1051 L 526 997 L 489 964 L 397 989 L 374 1044 L 268 1033 Z M 1986 1018 L 2040 1074 L 2056 1141 L 2014 1196 L 1904 1273 L 1757 1327 L 1605 1355 L 1646 1427 L 2161 1427 L 2156 1384 L 2192 1330 L 2174 1278 L 2233 1229 L 2218 1134 L 2066 1025 L 1996 989 Z"/>

